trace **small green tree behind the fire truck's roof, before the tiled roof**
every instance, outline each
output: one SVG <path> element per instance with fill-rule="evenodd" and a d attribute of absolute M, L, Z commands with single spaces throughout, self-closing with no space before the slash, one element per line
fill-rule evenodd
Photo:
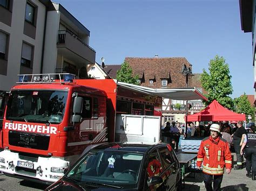
<path fill-rule="evenodd" d="M 129 63 L 122 63 L 121 69 L 117 71 L 117 80 L 125 83 L 131 83 L 135 85 L 140 85 L 139 75 L 133 75 L 132 68 Z"/>

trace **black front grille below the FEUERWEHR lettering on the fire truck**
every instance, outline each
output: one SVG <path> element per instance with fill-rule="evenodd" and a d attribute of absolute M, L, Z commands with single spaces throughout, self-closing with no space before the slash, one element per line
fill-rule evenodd
<path fill-rule="evenodd" d="M 49 135 L 38 133 L 26 133 L 19 131 L 9 131 L 9 144 L 38 150 L 48 150 L 50 142 Z"/>

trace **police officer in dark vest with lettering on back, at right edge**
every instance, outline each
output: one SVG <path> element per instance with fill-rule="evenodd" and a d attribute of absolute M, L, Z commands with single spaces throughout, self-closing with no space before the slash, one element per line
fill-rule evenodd
<path fill-rule="evenodd" d="M 246 135 L 246 141 L 242 143 L 241 155 L 245 148 L 245 158 L 246 158 L 246 176 L 255 180 L 256 178 L 256 133 L 249 132 Z M 252 169 L 252 172 L 251 172 Z"/>

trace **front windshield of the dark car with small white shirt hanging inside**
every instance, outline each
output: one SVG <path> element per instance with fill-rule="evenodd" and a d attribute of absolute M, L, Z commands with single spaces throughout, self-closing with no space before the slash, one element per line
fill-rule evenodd
<path fill-rule="evenodd" d="M 134 188 L 137 186 L 143 153 L 120 150 L 92 150 L 66 175 L 81 184 L 108 184 Z"/>

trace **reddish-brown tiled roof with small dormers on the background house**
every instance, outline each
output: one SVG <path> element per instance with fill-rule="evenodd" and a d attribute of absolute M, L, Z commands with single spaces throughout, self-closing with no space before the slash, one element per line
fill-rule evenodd
<path fill-rule="evenodd" d="M 190 62 L 186 58 L 131 58 L 126 57 L 125 61 L 129 63 L 133 74 L 141 74 L 144 72 L 145 82 L 141 86 L 151 88 L 163 88 L 161 80 L 169 80 L 166 88 L 185 88 L 186 77 L 181 73 L 183 66 L 191 67 Z M 156 82 L 150 84 L 150 80 L 154 79 L 156 75 Z M 200 74 L 194 74 L 188 78 L 188 87 L 201 87 Z"/>

